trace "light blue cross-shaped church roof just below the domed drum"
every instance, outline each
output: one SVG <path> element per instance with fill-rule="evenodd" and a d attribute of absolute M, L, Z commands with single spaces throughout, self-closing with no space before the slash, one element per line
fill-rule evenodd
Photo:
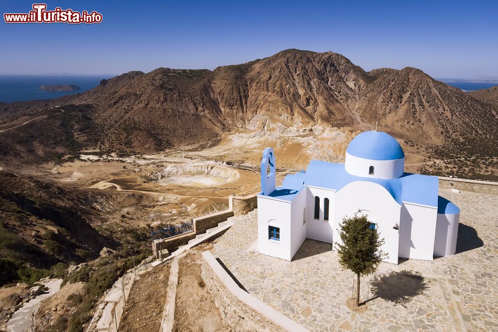
<path fill-rule="evenodd" d="M 301 175 L 298 174 L 287 175 L 285 180 L 287 180 L 287 177 L 289 179 L 284 180 L 284 184 L 298 182 L 301 178 Z M 317 160 L 309 163 L 304 176 L 304 184 L 306 185 L 336 191 L 355 181 L 368 181 L 381 185 L 399 205 L 402 202 L 408 202 L 432 207 L 438 206 L 439 181 L 436 176 L 404 173 L 401 177 L 395 179 L 362 177 L 348 173 L 344 164 Z M 295 187 L 292 188 L 295 189 Z"/>

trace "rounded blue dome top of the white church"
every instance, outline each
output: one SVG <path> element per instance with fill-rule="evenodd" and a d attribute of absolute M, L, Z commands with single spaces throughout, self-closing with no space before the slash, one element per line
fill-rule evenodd
<path fill-rule="evenodd" d="M 366 131 L 351 141 L 346 152 L 370 160 L 395 160 L 404 158 L 398 141 L 381 131 Z"/>

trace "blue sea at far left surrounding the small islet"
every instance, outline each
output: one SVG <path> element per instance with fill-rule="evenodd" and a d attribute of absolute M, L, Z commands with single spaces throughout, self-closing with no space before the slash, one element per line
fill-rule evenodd
<path fill-rule="evenodd" d="M 13 102 L 32 99 L 53 99 L 68 94 L 81 93 L 114 75 L 0 75 L 0 101 Z M 78 85 L 76 91 L 42 91 L 40 85 Z"/>

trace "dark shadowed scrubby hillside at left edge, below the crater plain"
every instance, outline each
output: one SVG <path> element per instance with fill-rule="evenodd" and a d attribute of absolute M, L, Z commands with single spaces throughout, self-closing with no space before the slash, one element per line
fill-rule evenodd
<path fill-rule="evenodd" d="M 95 229 L 96 195 L 0 170 L 0 285 L 33 282 L 56 263 L 96 258 L 117 242 Z M 59 265 L 59 266 L 63 266 Z"/>

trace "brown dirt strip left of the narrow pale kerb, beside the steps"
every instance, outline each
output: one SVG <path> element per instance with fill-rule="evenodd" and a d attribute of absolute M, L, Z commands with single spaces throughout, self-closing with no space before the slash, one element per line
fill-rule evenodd
<path fill-rule="evenodd" d="M 159 331 L 168 278 L 169 265 L 162 264 L 135 280 L 124 308 L 119 331 Z"/>

